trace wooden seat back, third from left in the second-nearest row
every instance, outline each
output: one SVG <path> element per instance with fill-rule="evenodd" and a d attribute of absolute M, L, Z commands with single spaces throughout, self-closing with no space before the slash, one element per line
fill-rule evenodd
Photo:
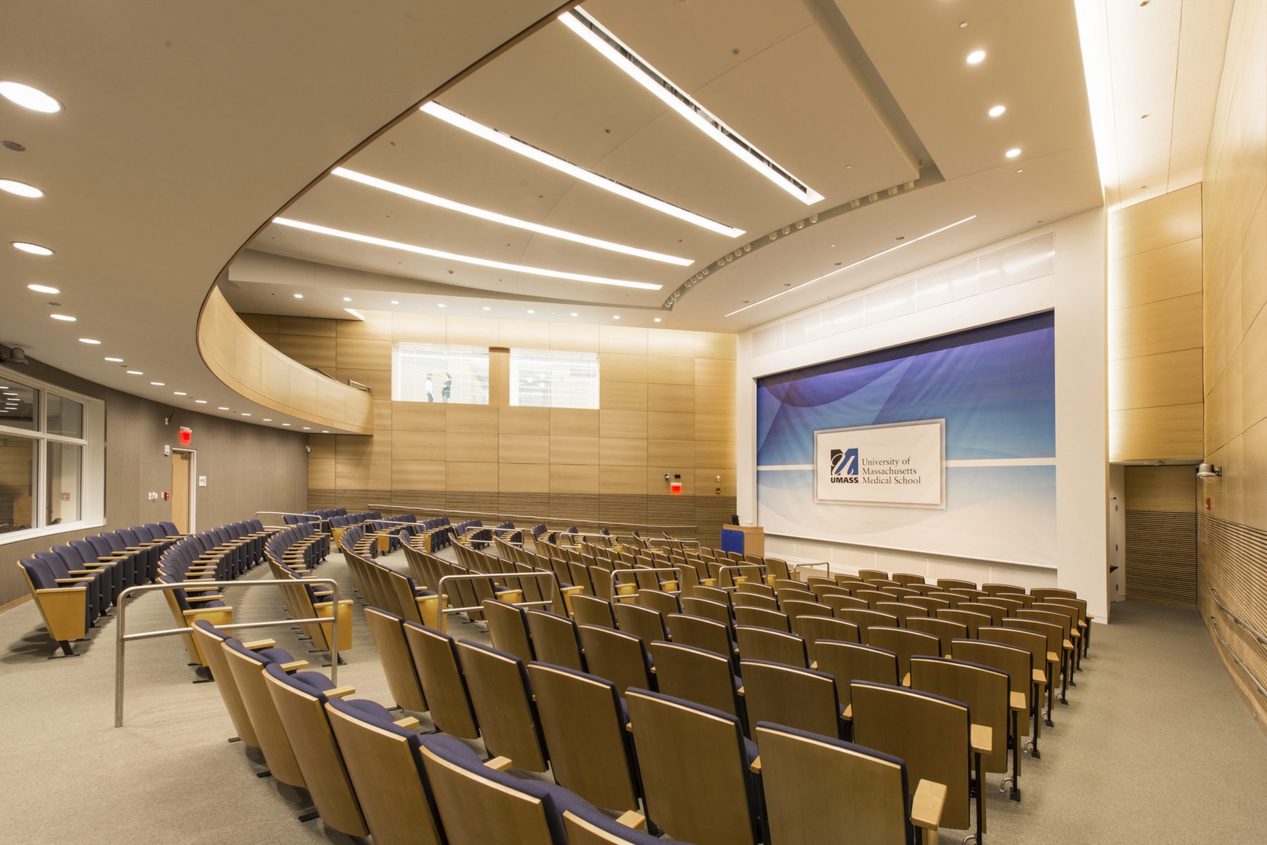
<path fill-rule="evenodd" d="M 516 768 L 545 772 L 546 750 L 523 661 L 466 640 L 457 644 L 457 660 L 488 753 L 511 758 Z"/>

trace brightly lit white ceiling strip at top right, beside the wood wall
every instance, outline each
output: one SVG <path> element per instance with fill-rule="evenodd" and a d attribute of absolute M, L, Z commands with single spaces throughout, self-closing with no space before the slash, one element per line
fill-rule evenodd
<path fill-rule="evenodd" d="M 1111 160 L 1109 205 L 1129 205 L 1201 181 L 1233 0 L 1093 0 L 1104 15 Z M 1147 117 L 1144 117 L 1147 115 Z"/>

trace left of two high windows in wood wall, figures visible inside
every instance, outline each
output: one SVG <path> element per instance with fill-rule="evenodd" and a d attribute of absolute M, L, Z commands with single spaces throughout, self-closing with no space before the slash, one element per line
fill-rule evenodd
<path fill-rule="evenodd" d="M 488 350 L 478 346 L 398 343 L 397 402 L 488 404 Z"/>

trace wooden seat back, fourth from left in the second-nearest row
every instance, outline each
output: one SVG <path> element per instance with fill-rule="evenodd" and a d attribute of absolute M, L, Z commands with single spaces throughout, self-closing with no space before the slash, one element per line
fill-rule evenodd
<path fill-rule="evenodd" d="M 540 663 L 528 665 L 528 680 L 555 783 L 604 810 L 636 810 L 637 785 L 616 685 Z"/>

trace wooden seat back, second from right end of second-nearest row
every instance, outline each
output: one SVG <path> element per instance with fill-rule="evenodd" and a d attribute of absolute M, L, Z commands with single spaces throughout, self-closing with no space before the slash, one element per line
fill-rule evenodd
<path fill-rule="evenodd" d="M 647 821 L 696 845 L 755 845 L 739 720 L 626 694 Z"/>

